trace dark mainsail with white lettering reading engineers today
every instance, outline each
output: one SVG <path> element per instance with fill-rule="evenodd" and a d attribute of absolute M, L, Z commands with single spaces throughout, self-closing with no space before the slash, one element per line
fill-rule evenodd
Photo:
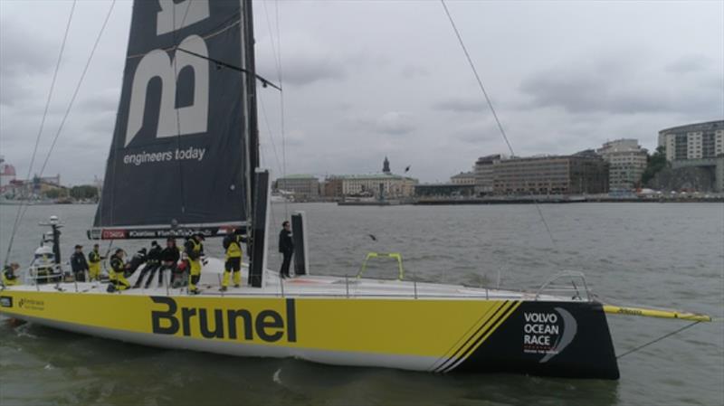
<path fill-rule="evenodd" d="M 243 72 L 253 62 L 247 3 L 135 2 L 92 238 L 214 235 L 247 224 L 250 155 L 258 159 L 255 78 Z"/>

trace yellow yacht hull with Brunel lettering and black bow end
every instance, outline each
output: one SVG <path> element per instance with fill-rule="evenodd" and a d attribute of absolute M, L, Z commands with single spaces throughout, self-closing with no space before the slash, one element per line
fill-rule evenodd
<path fill-rule="evenodd" d="M 5 316 L 142 345 L 415 371 L 618 377 L 605 316 L 590 302 L 6 289 L 0 305 Z M 571 364 L 586 348 L 602 355 Z"/>

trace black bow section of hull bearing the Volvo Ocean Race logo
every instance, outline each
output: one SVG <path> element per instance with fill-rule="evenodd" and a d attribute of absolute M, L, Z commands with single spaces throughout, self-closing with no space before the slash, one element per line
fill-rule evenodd
<path fill-rule="evenodd" d="M 523 302 L 453 370 L 619 378 L 599 303 Z"/>

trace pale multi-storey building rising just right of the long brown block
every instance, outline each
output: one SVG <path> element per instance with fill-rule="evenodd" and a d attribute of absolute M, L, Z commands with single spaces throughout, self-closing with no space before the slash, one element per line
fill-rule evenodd
<path fill-rule="evenodd" d="M 646 149 L 632 138 L 608 141 L 596 151 L 608 163 L 608 189 L 632 190 L 639 186 L 646 169 Z"/>

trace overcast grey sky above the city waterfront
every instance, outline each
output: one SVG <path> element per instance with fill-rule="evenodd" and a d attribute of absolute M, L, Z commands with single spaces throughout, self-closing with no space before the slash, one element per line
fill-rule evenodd
<path fill-rule="evenodd" d="M 109 5 L 76 6 L 33 172 Z M 254 3 L 258 71 L 273 81 L 276 6 Z M 448 6 L 519 156 L 569 154 L 619 137 L 653 149 L 662 128 L 724 118 L 722 1 Z M 389 156 L 393 172 L 412 165 L 421 181 L 445 181 L 478 156 L 507 153 L 439 2 L 278 7 L 288 174 L 378 172 Z M 0 0 L 0 154 L 19 177 L 28 171 L 70 9 L 64 0 Z M 64 184 L 104 173 L 130 14 L 131 2 L 119 0 L 45 170 L 62 174 Z M 279 94 L 260 92 L 263 164 L 278 175 Z"/>

